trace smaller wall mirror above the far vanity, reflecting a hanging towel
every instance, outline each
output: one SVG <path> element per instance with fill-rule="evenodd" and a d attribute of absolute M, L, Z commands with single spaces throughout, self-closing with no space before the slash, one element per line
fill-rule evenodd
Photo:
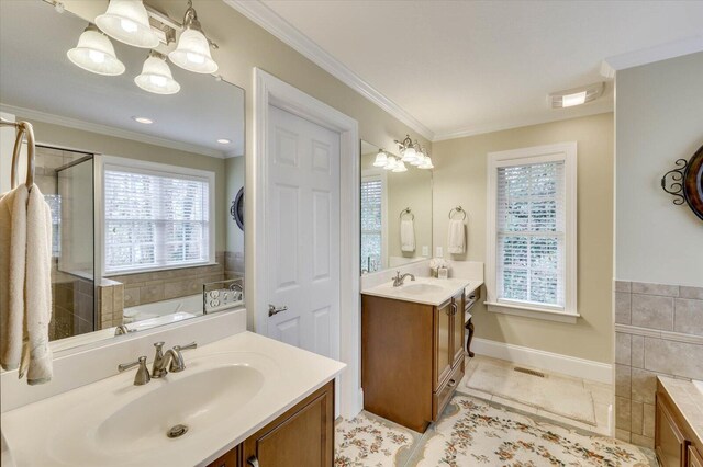
<path fill-rule="evenodd" d="M 380 149 L 361 141 L 361 274 L 427 259 L 432 249 L 432 170 L 375 167 Z"/>

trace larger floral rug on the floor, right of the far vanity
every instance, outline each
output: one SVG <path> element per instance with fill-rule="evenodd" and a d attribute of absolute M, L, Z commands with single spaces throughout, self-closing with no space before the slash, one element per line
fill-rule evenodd
<path fill-rule="evenodd" d="M 649 467 L 638 447 L 537 422 L 467 396 L 455 396 L 416 451 L 417 464 L 437 466 Z M 373 464 L 368 464 L 373 465 Z M 656 465 L 656 464 L 654 464 Z"/>

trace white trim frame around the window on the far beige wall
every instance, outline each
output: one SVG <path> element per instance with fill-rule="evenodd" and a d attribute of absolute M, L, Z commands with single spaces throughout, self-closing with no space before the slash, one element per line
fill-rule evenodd
<path fill-rule="evenodd" d="M 563 161 L 565 163 L 565 208 L 566 208 L 566 287 L 565 308 L 509 303 L 498 299 L 496 291 L 496 189 L 498 169 L 501 167 L 527 163 Z M 580 316 L 577 310 L 577 144 L 535 146 L 509 151 L 488 153 L 487 176 L 487 236 L 486 236 L 486 288 L 489 311 L 506 315 L 526 316 L 551 321 L 576 322 Z"/>

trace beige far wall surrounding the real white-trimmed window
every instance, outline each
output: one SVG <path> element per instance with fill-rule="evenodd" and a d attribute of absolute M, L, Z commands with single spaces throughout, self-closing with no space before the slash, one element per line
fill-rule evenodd
<path fill-rule="evenodd" d="M 475 308 L 476 337 L 612 363 L 613 114 L 534 125 L 433 145 L 434 244 L 445 247 L 447 214 L 468 213 L 468 249 L 455 260 L 486 261 L 487 153 L 578 143 L 578 311 L 576 324 Z"/>

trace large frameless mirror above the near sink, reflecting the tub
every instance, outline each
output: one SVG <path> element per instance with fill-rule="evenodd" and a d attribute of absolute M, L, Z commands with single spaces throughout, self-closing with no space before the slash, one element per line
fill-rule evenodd
<path fill-rule="evenodd" d="M 47 2 L 3 1 L 0 21 L 0 111 L 33 124 L 52 207 L 54 349 L 243 306 L 244 231 L 230 208 L 244 186 L 244 91 L 156 56 L 180 89 L 147 92 L 135 77 L 149 50 L 114 39 L 123 73 L 81 69 L 67 52 L 88 22 Z M 0 192 L 14 130 L 2 132 Z"/>

